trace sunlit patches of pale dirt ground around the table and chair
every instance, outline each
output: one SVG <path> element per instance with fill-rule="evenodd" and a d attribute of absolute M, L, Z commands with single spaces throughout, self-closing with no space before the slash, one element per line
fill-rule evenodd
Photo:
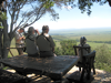
<path fill-rule="evenodd" d="M 68 83 L 65 77 L 68 75 L 70 75 L 72 72 L 78 71 L 79 69 L 77 66 L 73 66 L 65 75 L 64 75 L 64 83 Z M 7 70 L 10 72 L 16 72 L 14 70 Z M 98 70 L 95 69 L 95 75 L 94 80 L 92 81 L 92 83 L 111 83 L 111 73 L 104 72 L 102 70 Z M 33 79 L 33 81 L 31 83 L 53 83 L 53 81 L 51 81 L 50 77 L 47 76 L 42 76 L 42 77 L 38 77 L 34 76 L 34 74 L 28 74 L 28 77 Z"/>

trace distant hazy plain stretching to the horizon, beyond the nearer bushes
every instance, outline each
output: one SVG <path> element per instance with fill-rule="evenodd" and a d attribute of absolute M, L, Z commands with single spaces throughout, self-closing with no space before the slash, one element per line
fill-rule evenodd
<path fill-rule="evenodd" d="M 81 37 L 85 37 L 92 49 L 102 44 L 107 44 L 111 49 L 111 28 L 52 30 L 50 34 L 54 41 L 75 40 L 77 44 Z"/>

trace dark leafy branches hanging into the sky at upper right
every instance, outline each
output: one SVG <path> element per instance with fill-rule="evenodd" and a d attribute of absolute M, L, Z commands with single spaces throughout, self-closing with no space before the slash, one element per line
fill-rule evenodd
<path fill-rule="evenodd" d="M 88 15 L 91 14 L 91 7 L 94 4 L 94 2 L 99 3 L 100 6 L 103 6 L 104 3 L 109 3 L 111 7 L 111 0 L 61 0 L 65 2 L 65 6 L 71 6 L 71 8 L 79 8 L 81 10 L 81 13 L 87 12 Z"/>

